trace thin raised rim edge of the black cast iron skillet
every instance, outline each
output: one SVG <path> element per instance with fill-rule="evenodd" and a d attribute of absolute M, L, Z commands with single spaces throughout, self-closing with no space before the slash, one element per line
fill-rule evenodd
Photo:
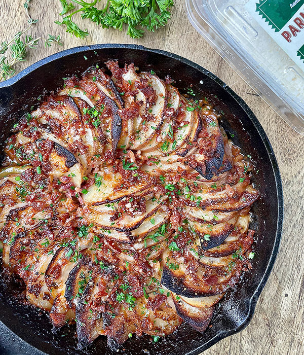
<path fill-rule="evenodd" d="M 60 58 L 63 58 L 65 56 L 75 54 L 75 53 L 92 51 L 92 50 L 96 50 L 96 49 L 106 49 L 106 48 L 113 48 L 113 49 L 122 48 L 122 49 L 131 49 L 131 50 L 136 49 L 136 50 L 142 50 L 145 52 L 152 52 L 154 54 L 160 54 L 160 55 L 175 59 L 177 61 L 180 61 L 185 65 L 195 68 L 196 70 L 203 73 L 204 75 L 207 75 L 209 78 L 211 78 L 213 81 L 215 81 L 216 84 L 218 84 L 222 89 L 224 89 L 228 94 L 230 94 L 237 101 L 237 103 L 240 105 L 240 107 L 245 111 L 249 120 L 252 122 L 256 131 L 260 135 L 260 138 L 263 141 L 264 147 L 267 150 L 269 161 L 271 162 L 271 166 L 272 166 L 272 170 L 273 170 L 275 182 L 276 182 L 277 203 L 278 203 L 277 216 L 278 217 L 277 217 L 277 228 L 276 228 L 276 236 L 275 236 L 274 246 L 273 246 L 272 254 L 270 256 L 267 268 L 265 269 L 265 272 L 263 273 L 263 275 L 260 279 L 259 285 L 257 286 L 255 292 L 253 293 L 252 297 L 249 300 L 249 308 L 248 308 L 247 316 L 246 316 L 245 320 L 243 321 L 243 323 L 239 327 L 232 328 L 228 331 L 219 332 L 215 337 L 213 337 L 212 339 L 210 339 L 206 343 L 204 343 L 201 346 L 197 347 L 196 349 L 191 350 L 186 353 L 186 355 L 198 355 L 199 353 L 208 349 L 209 347 L 211 347 L 212 345 L 214 345 L 218 341 L 220 341 L 230 335 L 233 335 L 233 334 L 236 334 L 236 333 L 242 331 L 243 329 L 245 329 L 249 325 L 249 323 L 253 317 L 253 314 L 254 314 L 257 300 L 258 300 L 263 288 L 265 287 L 265 284 L 266 284 L 266 282 L 270 276 L 270 273 L 274 267 L 274 263 L 277 258 L 277 255 L 278 255 L 281 236 L 282 236 L 283 215 L 284 215 L 284 212 L 283 212 L 283 209 L 284 209 L 284 207 L 283 207 L 283 188 L 282 188 L 282 180 L 281 180 L 281 174 L 280 174 L 278 162 L 275 157 L 272 145 L 270 143 L 270 140 L 269 140 L 267 134 L 265 133 L 264 129 L 262 128 L 261 124 L 259 123 L 259 121 L 256 118 L 256 116 L 254 115 L 254 113 L 251 111 L 251 109 L 248 107 L 248 105 L 245 103 L 245 101 L 238 94 L 236 94 L 229 86 L 227 86 L 216 75 L 209 72 L 209 70 L 205 69 L 201 65 L 196 64 L 195 62 L 193 62 L 189 59 L 186 59 L 184 57 L 181 57 L 177 54 L 174 54 L 174 53 L 171 53 L 168 51 L 164 51 L 164 50 L 160 50 L 160 49 L 151 49 L 151 48 L 144 47 L 142 45 L 134 45 L 134 44 L 95 44 L 95 45 L 89 45 L 89 46 L 78 46 L 78 47 L 69 48 L 69 49 L 57 52 L 55 54 L 52 54 L 46 58 L 43 58 L 43 59 L 33 63 L 32 65 L 30 65 L 29 67 L 22 70 L 22 72 L 18 73 L 13 78 L 10 78 L 10 79 L 0 83 L 0 95 L 1 95 L 2 89 L 18 85 L 19 80 L 25 78 L 27 75 L 34 72 L 34 70 L 36 70 L 37 68 L 42 67 L 54 60 L 57 60 L 57 59 L 60 59 Z M 3 322 L 1 322 L 1 323 L 3 323 Z M 3 324 L 5 325 L 5 323 L 3 323 Z M 10 327 L 7 327 L 7 328 L 10 329 Z M 14 334 L 17 335 L 16 333 L 14 333 Z M 21 338 L 21 339 L 23 340 L 23 338 Z M 27 342 L 26 340 L 24 340 L 24 341 Z M 30 344 L 30 342 L 28 342 L 28 344 Z M 33 345 L 31 345 L 31 346 L 33 346 Z M 42 351 L 42 350 L 40 350 L 40 351 Z"/>

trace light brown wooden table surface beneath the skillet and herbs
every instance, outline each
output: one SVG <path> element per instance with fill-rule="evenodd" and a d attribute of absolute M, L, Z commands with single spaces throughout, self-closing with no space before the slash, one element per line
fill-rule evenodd
<path fill-rule="evenodd" d="M 26 26 L 23 0 L 0 2 L 1 41 L 10 39 Z M 304 353 L 304 137 L 293 131 L 234 70 L 209 46 L 189 23 L 182 0 L 175 0 L 172 19 L 165 28 L 140 40 L 125 32 L 102 29 L 89 21 L 79 21 L 91 33 L 85 41 L 71 38 L 54 24 L 58 1 L 32 0 L 31 14 L 40 22 L 33 28 L 37 37 L 60 34 L 64 47 L 56 45 L 31 50 L 18 69 L 59 50 L 99 43 L 132 43 L 159 48 L 193 60 L 210 70 L 240 95 L 255 113 L 275 151 L 282 175 L 285 220 L 279 255 L 269 281 L 257 303 L 249 326 L 221 340 L 204 355 L 293 355 Z M 267 218 L 267 216 L 265 216 Z"/>

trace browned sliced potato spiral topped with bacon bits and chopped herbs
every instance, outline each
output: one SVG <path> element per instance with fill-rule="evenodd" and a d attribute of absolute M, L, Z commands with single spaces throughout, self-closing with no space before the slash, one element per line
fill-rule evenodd
<path fill-rule="evenodd" d="M 203 99 L 109 61 L 65 79 L 7 139 L 3 267 L 79 347 L 199 332 L 250 268 L 248 157 Z M 108 75 L 106 73 L 111 73 Z M 192 93 L 190 91 L 190 93 Z"/>

